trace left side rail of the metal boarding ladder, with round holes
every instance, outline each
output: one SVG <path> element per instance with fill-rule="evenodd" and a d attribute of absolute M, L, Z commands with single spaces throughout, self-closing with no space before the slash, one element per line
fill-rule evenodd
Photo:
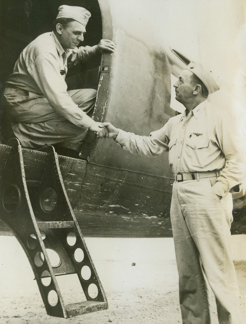
<path fill-rule="evenodd" d="M 17 139 L 10 140 L 8 144 L 11 145 L 12 148 L 0 178 L 0 194 L 2 197 L 0 218 L 17 237 L 17 240 L 28 257 L 47 314 L 51 316 L 66 317 L 64 301 L 29 199 L 21 145 Z M 8 191 L 14 191 L 17 195 L 17 197 L 14 197 L 15 200 L 17 198 L 14 207 L 9 207 L 9 205 L 12 206 L 12 203 L 8 203 Z M 48 286 L 45 286 L 41 280 L 41 274 L 44 271 L 48 271 L 51 276 L 51 282 Z M 58 301 L 54 306 L 50 305 L 48 300 L 50 291 L 56 291 L 57 293 Z"/>

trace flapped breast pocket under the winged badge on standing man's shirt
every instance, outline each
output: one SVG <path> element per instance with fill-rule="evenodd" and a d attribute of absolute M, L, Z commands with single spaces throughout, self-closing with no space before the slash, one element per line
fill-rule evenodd
<path fill-rule="evenodd" d="M 190 138 L 186 140 L 186 154 L 192 160 L 192 165 L 195 168 L 204 168 L 209 161 L 209 139 L 208 138 Z"/>

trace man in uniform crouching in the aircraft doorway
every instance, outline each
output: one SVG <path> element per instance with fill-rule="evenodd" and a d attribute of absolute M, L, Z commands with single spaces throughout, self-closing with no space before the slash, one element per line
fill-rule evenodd
<path fill-rule="evenodd" d="M 12 131 L 23 147 L 56 144 L 79 151 L 88 129 L 104 136 L 87 113 L 95 106 L 95 89 L 67 91 L 67 68 L 93 59 L 103 51 L 114 52 L 115 44 L 101 40 L 93 47 L 79 47 L 84 40 L 89 11 L 60 6 L 52 32 L 32 41 L 20 54 L 6 81 L 3 104 Z"/>

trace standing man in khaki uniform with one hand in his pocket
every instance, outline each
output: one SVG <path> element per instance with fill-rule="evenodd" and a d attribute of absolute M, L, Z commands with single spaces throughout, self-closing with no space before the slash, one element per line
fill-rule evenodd
<path fill-rule="evenodd" d="M 199 64 L 191 62 L 173 85 L 186 110 L 150 136 L 139 136 L 105 122 L 121 147 L 142 156 L 169 151 L 174 183 L 171 222 L 179 273 L 183 323 L 209 324 L 211 287 L 219 323 L 239 324 L 240 300 L 229 251 L 231 188 L 245 172 L 237 116 L 207 101 L 219 89 Z"/>

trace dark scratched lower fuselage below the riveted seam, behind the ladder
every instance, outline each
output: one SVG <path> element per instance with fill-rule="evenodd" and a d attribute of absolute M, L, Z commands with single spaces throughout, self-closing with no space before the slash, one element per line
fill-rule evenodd
<path fill-rule="evenodd" d="M 0 145 L 3 169 L 10 147 Z M 26 180 L 40 180 L 46 153 L 23 149 Z M 85 236 L 171 236 L 171 181 L 59 156 L 64 185 Z M 169 188 L 169 189 L 168 189 Z M 21 216 L 21 215 L 20 215 Z M 0 224 L 0 232 L 7 233 Z"/>

